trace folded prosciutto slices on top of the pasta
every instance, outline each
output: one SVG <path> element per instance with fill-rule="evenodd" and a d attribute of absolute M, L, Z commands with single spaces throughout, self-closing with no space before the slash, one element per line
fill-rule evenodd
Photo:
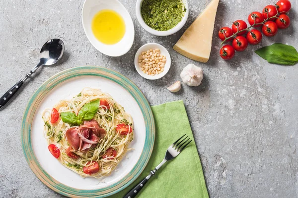
<path fill-rule="evenodd" d="M 101 138 L 106 135 L 106 131 L 99 127 L 96 120 L 84 121 L 79 127 L 71 127 L 66 133 L 68 143 L 74 150 L 88 151 L 91 146 L 95 146 Z"/>

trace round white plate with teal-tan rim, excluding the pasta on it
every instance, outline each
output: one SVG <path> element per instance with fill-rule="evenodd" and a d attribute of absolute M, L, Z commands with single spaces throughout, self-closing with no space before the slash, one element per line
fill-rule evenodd
<path fill-rule="evenodd" d="M 105 72 L 108 73 L 105 74 Z M 60 99 L 72 98 L 85 87 L 101 89 L 103 92 L 109 93 L 124 107 L 126 112 L 132 115 L 134 121 L 134 140 L 129 145 L 134 150 L 127 152 L 112 174 L 103 179 L 82 178 L 63 166 L 49 152 L 47 141 L 43 136 L 42 112 L 44 109 L 53 107 Z M 61 194 L 77 193 L 76 195 L 80 195 L 79 193 L 85 193 L 81 196 L 88 197 L 96 192 L 95 195 L 100 196 L 107 195 L 107 193 L 113 194 L 128 186 L 145 168 L 149 160 L 148 154 L 151 154 L 153 146 L 152 137 L 150 137 L 154 133 L 151 110 L 148 109 L 147 100 L 140 101 L 139 97 L 144 98 L 144 95 L 139 92 L 140 90 L 121 74 L 98 67 L 76 67 L 63 71 L 62 74 L 57 74 L 45 82 L 30 99 L 22 125 L 22 145 L 25 157 L 33 172 L 46 185 L 53 181 L 57 186 L 55 188 L 52 188 L 51 185 L 48 186 Z M 146 109 L 143 102 L 147 106 Z M 152 122 L 153 125 L 149 122 Z M 145 157 L 145 161 L 143 160 L 144 155 L 148 155 Z M 32 167 L 33 163 L 36 163 L 34 167 Z M 40 171 L 45 174 L 40 175 Z M 61 186 L 66 190 L 61 190 Z M 115 189 L 117 190 L 115 191 Z"/>

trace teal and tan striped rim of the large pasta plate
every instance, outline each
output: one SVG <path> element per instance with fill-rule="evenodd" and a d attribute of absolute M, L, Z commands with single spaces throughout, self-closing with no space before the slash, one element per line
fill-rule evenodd
<path fill-rule="evenodd" d="M 124 176 L 117 183 L 110 185 L 101 189 L 93 190 L 81 190 L 75 189 L 64 184 L 61 184 L 54 178 L 52 178 L 47 172 L 41 167 L 38 160 L 35 157 L 32 145 L 31 145 L 31 123 L 37 107 L 41 100 L 56 86 L 59 84 L 76 77 L 81 76 L 97 76 L 109 79 L 115 83 L 122 86 L 126 91 L 128 91 L 133 98 L 137 101 L 145 120 L 146 126 L 146 137 L 145 145 L 142 150 L 141 156 L 138 159 L 134 168 Z M 57 193 L 68 196 L 68 197 L 107 197 L 116 194 L 126 187 L 128 187 L 132 182 L 134 182 L 140 174 L 145 169 L 149 158 L 152 153 L 153 145 L 155 139 L 155 124 L 150 108 L 149 102 L 142 93 L 142 91 L 127 77 L 124 75 L 98 66 L 82 66 L 74 67 L 71 69 L 64 70 L 58 74 L 49 78 L 44 82 L 33 94 L 31 99 L 28 101 L 27 107 L 24 111 L 24 116 L 22 119 L 21 126 L 21 144 L 25 159 L 33 171 L 33 173 L 40 179 L 46 186 L 56 191 Z"/>

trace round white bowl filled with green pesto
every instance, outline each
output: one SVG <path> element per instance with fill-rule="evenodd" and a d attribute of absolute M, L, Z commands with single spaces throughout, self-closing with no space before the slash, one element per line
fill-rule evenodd
<path fill-rule="evenodd" d="M 137 0 L 136 15 L 141 26 L 156 36 L 178 32 L 188 17 L 187 0 Z"/>

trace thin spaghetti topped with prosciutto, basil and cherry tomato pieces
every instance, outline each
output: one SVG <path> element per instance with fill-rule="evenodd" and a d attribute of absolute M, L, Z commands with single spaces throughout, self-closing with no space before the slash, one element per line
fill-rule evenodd
<path fill-rule="evenodd" d="M 109 175 L 134 138 L 131 115 L 98 89 L 60 100 L 42 119 L 50 152 L 82 177 Z"/>

